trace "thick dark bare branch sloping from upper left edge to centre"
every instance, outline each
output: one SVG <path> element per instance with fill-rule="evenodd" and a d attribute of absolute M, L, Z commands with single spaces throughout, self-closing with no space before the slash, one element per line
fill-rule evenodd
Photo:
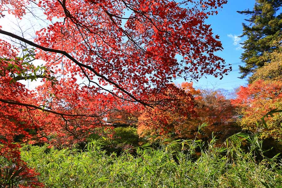
<path fill-rule="evenodd" d="M 107 81 L 108 83 L 116 86 L 119 90 L 123 91 L 125 94 L 127 94 L 129 97 L 133 98 L 136 102 L 139 102 L 141 104 L 143 104 L 144 106 L 149 106 L 149 107 L 153 107 L 151 104 L 148 104 L 146 102 L 143 102 L 139 99 L 137 99 L 135 96 L 133 96 L 132 94 L 130 94 L 128 91 L 126 91 L 125 89 L 123 89 L 121 86 L 119 86 L 117 83 L 115 83 L 114 81 L 111 81 L 109 80 L 106 76 L 103 76 L 101 74 L 99 74 L 95 69 L 93 69 L 91 66 L 89 65 L 85 65 L 83 63 L 80 63 L 78 60 L 76 60 L 73 56 L 71 56 L 69 53 L 67 53 L 66 51 L 64 50 L 56 50 L 56 49 L 52 49 L 52 48 L 47 48 L 47 47 L 44 47 L 44 46 L 41 46 L 39 44 L 35 44 L 34 42 L 30 41 L 30 40 L 27 40 L 27 39 L 24 39 L 16 34 L 13 34 L 13 33 L 10 33 L 10 32 L 7 32 L 7 31 L 4 31 L 2 29 L 0 29 L 0 34 L 4 34 L 4 35 L 7 35 L 7 36 L 10 36 L 14 39 L 18 39 L 20 41 L 23 41 L 31 46 L 34 46 L 36 48 L 39 48 L 43 51 L 47 51 L 47 52 L 53 52 L 53 53 L 57 53 L 57 54 L 62 54 L 62 55 L 65 55 L 67 58 L 69 58 L 70 60 L 72 60 L 76 65 L 78 66 L 81 66 L 81 67 L 84 67 L 88 70 L 91 70 L 96 76 L 104 79 L 105 81 Z"/>

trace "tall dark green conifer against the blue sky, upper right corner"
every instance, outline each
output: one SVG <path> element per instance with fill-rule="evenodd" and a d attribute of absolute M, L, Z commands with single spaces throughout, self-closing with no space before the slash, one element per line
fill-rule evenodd
<path fill-rule="evenodd" d="M 247 37 L 243 43 L 244 52 L 241 55 L 245 66 L 240 66 L 241 78 L 254 72 L 257 68 L 269 62 L 261 59 L 265 52 L 271 53 L 276 46 L 271 45 L 282 35 L 282 13 L 279 8 L 282 0 L 256 0 L 253 10 L 237 11 L 248 16 L 245 19 L 249 24 L 243 23 L 243 34 Z"/>

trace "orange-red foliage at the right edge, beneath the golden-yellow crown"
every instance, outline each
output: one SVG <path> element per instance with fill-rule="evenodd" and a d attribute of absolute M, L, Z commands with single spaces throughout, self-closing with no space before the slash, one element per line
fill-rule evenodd
<path fill-rule="evenodd" d="M 238 123 L 246 130 L 261 133 L 262 138 L 272 137 L 282 141 L 282 113 L 266 118 L 267 127 L 261 119 L 267 112 L 282 109 L 282 81 L 253 81 L 247 87 L 241 86 L 233 103 L 243 115 Z"/>

